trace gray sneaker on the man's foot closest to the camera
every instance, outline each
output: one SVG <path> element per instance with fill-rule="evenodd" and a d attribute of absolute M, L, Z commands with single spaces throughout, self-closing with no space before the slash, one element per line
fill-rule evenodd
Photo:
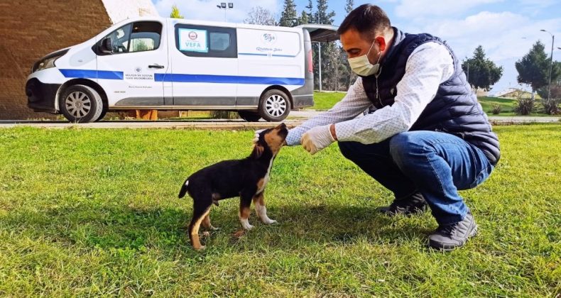
<path fill-rule="evenodd" d="M 438 226 L 435 233 L 428 236 L 428 245 L 437 250 L 454 250 L 462 247 L 467 239 L 477 234 L 474 216 L 468 212 L 464 220 L 447 226 Z"/>

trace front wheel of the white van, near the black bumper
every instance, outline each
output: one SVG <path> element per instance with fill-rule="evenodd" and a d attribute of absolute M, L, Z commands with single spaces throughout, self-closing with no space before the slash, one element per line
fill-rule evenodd
<path fill-rule="evenodd" d="M 102 97 L 85 85 L 73 85 L 60 96 L 59 109 L 72 123 L 87 123 L 99 119 L 103 112 Z"/>

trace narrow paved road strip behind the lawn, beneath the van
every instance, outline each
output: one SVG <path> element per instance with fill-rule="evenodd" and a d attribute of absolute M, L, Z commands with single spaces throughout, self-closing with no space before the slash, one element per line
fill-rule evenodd
<path fill-rule="evenodd" d="M 307 118 L 320 114 L 320 111 L 302 110 L 291 111 L 284 121 L 288 127 L 298 126 Z M 519 123 L 561 123 L 561 117 L 528 117 L 528 116 L 490 116 L 494 124 Z M 9 121 L 0 120 L 0 128 L 16 126 L 32 126 L 40 128 L 207 128 L 207 129 L 259 129 L 275 126 L 273 122 L 246 122 L 241 119 L 222 120 L 183 120 L 183 121 L 99 121 L 96 123 L 68 123 L 67 121 Z"/>

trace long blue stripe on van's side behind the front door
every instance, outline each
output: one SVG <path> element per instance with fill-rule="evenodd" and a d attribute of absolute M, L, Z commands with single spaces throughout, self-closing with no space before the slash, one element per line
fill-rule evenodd
<path fill-rule="evenodd" d="M 235 75 L 183 75 L 155 74 L 156 82 L 222 83 L 222 84 L 268 84 L 303 85 L 304 79 L 296 77 L 241 77 Z"/>

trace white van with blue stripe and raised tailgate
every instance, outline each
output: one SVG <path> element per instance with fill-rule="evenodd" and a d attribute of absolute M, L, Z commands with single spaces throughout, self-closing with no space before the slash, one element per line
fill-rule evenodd
<path fill-rule="evenodd" d="M 311 42 L 337 39 L 336 30 L 131 18 L 36 62 L 28 106 L 71 122 L 128 109 L 228 110 L 247 121 L 281 121 L 313 105 Z"/>

